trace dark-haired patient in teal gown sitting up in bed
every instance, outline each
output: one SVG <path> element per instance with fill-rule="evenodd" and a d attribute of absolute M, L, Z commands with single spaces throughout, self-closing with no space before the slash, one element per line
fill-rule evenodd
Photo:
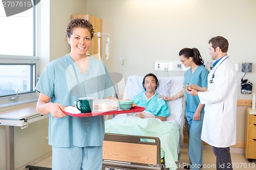
<path fill-rule="evenodd" d="M 157 77 L 154 74 L 147 74 L 143 79 L 142 85 L 144 90 L 134 96 L 132 101 L 137 106 L 145 107 L 146 109 L 144 112 L 130 115 L 140 118 L 155 117 L 165 121 L 170 114 L 166 101 L 158 98 L 158 94 L 155 91 L 159 85 Z"/>

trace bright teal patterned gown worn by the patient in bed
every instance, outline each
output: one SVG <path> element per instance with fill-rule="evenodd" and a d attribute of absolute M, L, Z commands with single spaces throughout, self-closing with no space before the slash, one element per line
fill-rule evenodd
<path fill-rule="evenodd" d="M 165 100 L 158 98 L 158 94 L 155 93 L 152 98 L 147 99 L 145 90 L 134 96 L 132 101 L 140 107 L 145 107 L 146 111 L 153 113 L 155 116 L 167 117 L 170 115 L 168 105 Z"/>

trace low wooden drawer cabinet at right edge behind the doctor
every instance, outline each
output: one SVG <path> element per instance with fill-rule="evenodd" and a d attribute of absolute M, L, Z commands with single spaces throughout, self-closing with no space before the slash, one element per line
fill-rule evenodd
<path fill-rule="evenodd" d="M 245 158 L 256 159 L 256 110 L 246 108 L 245 117 Z"/>

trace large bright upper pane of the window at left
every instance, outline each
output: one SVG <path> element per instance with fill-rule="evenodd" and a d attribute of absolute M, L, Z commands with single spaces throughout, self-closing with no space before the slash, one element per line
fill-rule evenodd
<path fill-rule="evenodd" d="M 9 17 L 4 17 L 5 10 L 1 8 L 1 32 L 4 34 L 1 35 L 0 54 L 35 56 L 35 7 Z"/>

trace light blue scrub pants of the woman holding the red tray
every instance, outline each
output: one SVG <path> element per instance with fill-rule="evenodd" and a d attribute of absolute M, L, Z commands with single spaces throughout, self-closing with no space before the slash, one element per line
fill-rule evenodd
<path fill-rule="evenodd" d="M 53 170 L 101 170 L 102 146 L 100 147 L 52 147 Z"/>

